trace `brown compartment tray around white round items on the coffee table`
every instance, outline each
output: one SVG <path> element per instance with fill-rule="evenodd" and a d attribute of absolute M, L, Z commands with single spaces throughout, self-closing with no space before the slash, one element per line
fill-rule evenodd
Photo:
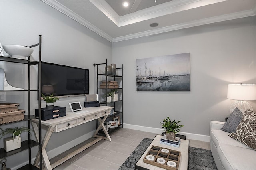
<path fill-rule="evenodd" d="M 162 149 L 166 149 L 168 150 L 168 153 L 166 152 L 162 152 Z M 154 160 L 148 160 L 146 157 L 148 155 L 152 155 L 154 156 Z M 162 158 L 165 160 L 165 163 L 161 164 L 157 162 L 158 158 Z M 176 167 L 171 167 L 167 165 L 168 161 L 173 161 L 176 163 Z M 146 154 L 146 156 L 143 159 L 143 162 L 150 164 L 150 165 L 154 165 L 154 166 L 158 166 L 160 168 L 164 168 L 167 170 L 178 170 L 179 168 L 179 163 L 180 163 L 180 151 L 177 150 L 172 150 L 172 149 L 168 149 L 168 148 L 163 148 L 163 147 L 159 147 L 159 146 L 152 146 L 150 148 L 150 150 L 148 151 L 148 153 Z"/>

